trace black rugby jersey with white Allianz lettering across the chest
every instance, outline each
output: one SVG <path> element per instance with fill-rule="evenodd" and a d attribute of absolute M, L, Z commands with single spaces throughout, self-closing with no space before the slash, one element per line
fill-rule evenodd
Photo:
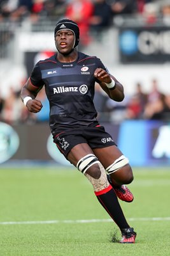
<path fill-rule="evenodd" d="M 78 59 L 71 63 L 57 61 L 55 54 L 35 65 L 31 83 L 38 88 L 45 85 L 52 131 L 97 124 L 93 103 L 96 68 L 106 70 L 99 58 L 82 52 L 78 52 Z"/>

